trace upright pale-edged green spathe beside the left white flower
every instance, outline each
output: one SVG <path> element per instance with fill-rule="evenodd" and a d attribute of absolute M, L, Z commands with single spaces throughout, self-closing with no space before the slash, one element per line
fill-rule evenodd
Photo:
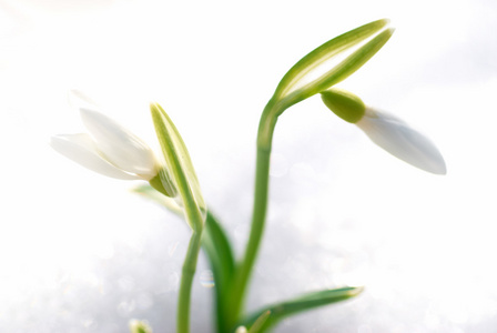
<path fill-rule="evenodd" d="M 206 208 L 190 154 L 183 139 L 161 105 L 153 103 L 150 109 L 165 164 L 185 208 L 186 221 L 193 230 L 200 231 L 203 228 L 202 221 Z"/>

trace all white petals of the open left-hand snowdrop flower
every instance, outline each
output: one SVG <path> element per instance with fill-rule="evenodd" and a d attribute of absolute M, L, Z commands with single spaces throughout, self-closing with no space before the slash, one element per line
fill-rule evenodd
<path fill-rule="evenodd" d="M 80 113 L 89 133 L 53 137 L 54 150 L 111 178 L 150 181 L 158 175 L 156 159 L 140 138 L 98 111 L 81 108 Z"/>

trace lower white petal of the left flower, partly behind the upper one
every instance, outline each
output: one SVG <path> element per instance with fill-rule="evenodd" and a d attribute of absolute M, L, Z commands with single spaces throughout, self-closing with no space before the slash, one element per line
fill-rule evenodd
<path fill-rule="evenodd" d="M 106 162 L 99 154 L 95 143 L 89 134 L 52 137 L 50 145 L 64 157 L 103 175 L 124 180 L 140 179 L 138 175 L 129 174 Z"/>

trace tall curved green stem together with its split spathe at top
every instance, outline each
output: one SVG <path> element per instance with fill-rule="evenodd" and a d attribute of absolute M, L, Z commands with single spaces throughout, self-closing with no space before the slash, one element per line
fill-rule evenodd
<path fill-rule="evenodd" d="M 392 37 L 393 29 L 384 29 L 388 20 L 378 20 L 338 36 L 302 58 L 283 77 L 261 117 L 257 132 L 257 154 L 252 224 L 245 254 L 235 274 L 230 300 L 231 317 L 235 323 L 242 313 L 243 302 L 251 278 L 267 212 L 270 161 L 273 133 L 278 117 L 290 107 L 317 94 L 345 80 L 366 63 Z M 326 64 L 326 61 L 356 48 L 345 60 L 307 82 L 308 74 Z"/>

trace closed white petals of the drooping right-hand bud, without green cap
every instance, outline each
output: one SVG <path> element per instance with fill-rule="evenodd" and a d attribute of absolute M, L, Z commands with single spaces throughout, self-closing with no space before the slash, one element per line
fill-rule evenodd
<path fill-rule="evenodd" d="M 432 173 L 446 173 L 444 158 L 435 144 L 398 118 L 366 109 L 356 125 L 394 157 Z"/>

